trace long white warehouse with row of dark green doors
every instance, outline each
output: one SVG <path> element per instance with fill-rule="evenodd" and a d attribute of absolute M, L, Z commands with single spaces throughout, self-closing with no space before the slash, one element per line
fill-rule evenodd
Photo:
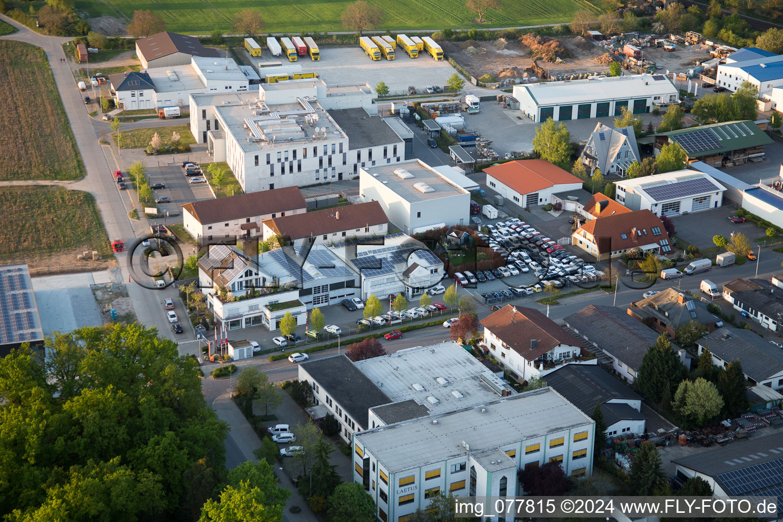
<path fill-rule="evenodd" d="M 655 106 L 679 103 L 680 92 L 664 74 L 591 77 L 514 85 L 520 110 L 532 121 L 582 120 L 619 116 L 623 107 L 634 114 Z"/>

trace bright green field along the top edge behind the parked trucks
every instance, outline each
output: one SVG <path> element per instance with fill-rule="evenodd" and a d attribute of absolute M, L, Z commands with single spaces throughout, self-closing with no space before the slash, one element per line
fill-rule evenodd
<path fill-rule="evenodd" d="M 150 9 L 160 13 L 168 31 L 187 34 L 210 34 L 222 29 L 229 31 L 235 13 L 242 9 L 261 10 L 265 20 L 265 31 L 270 33 L 312 33 L 316 31 L 345 31 L 341 25 L 341 14 L 350 0 L 308 0 L 280 2 L 279 0 L 223 0 L 213 2 L 186 2 L 185 0 L 114 0 L 94 2 L 77 0 L 76 9 L 88 16 L 117 16 L 117 10 L 128 17 L 136 9 Z M 370 0 L 370 4 L 381 9 L 382 30 L 401 31 L 422 29 L 458 29 L 471 27 L 514 27 L 542 23 L 568 23 L 572 14 L 580 9 L 598 13 L 604 7 L 603 0 L 500 0 L 498 11 L 490 10 L 484 16 L 485 23 L 478 26 L 474 20 L 478 15 L 465 7 L 464 0 Z"/>

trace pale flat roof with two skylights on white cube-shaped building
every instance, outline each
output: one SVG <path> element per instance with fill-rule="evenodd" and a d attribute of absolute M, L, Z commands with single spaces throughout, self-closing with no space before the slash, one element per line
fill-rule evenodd
<path fill-rule="evenodd" d="M 407 171 L 410 177 L 400 178 L 398 175 L 395 175 L 395 171 Z M 422 160 L 406 160 L 395 164 L 383 164 L 374 167 L 368 165 L 362 168 L 361 175 L 372 176 L 377 179 L 377 182 L 383 183 L 388 189 L 394 191 L 406 201 L 438 200 L 442 197 L 468 193 L 467 190 L 446 178 L 446 176 L 425 164 Z M 421 192 L 416 188 L 417 183 L 428 185 L 432 191 Z M 361 185 L 361 181 L 359 185 Z"/>

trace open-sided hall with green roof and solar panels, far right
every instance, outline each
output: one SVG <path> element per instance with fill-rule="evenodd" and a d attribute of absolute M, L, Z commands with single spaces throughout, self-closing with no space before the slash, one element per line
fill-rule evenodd
<path fill-rule="evenodd" d="M 750 120 L 726 121 L 656 134 L 655 155 L 672 142 L 685 150 L 688 163 L 702 161 L 720 168 L 762 161 L 764 146 L 772 139 Z"/>

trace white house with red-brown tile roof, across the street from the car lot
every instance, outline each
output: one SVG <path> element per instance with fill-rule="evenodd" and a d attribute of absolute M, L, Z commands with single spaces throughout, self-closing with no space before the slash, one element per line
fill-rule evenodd
<path fill-rule="evenodd" d="M 566 362 L 597 364 L 583 344 L 561 326 L 533 308 L 507 304 L 481 320 L 483 344 L 520 382 L 530 381 Z"/>

